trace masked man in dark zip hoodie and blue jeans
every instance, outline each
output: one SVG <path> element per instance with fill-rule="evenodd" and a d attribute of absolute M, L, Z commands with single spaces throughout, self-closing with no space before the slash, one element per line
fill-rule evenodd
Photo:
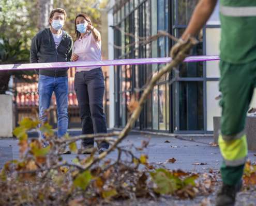
<path fill-rule="evenodd" d="M 66 12 L 63 9 L 54 9 L 50 13 L 50 28 L 46 28 L 32 39 L 30 49 L 31 63 L 66 62 L 71 61 L 73 41 L 67 32 L 61 30 L 65 24 Z M 45 68 L 35 70 L 39 75 L 39 121 L 47 122 L 44 110 L 50 106 L 54 92 L 58 114 L 58 137 L 67 132 L 68 128 L 68 68 Z M 40 126 L 40 125 L 39 125 Z M 40 138 L 44 138 L 40 134 Z M 43 146 L 48 144 L 44 141 Z M 67 147 L 62 148 L 63 154 L 70 154 Z"/>

